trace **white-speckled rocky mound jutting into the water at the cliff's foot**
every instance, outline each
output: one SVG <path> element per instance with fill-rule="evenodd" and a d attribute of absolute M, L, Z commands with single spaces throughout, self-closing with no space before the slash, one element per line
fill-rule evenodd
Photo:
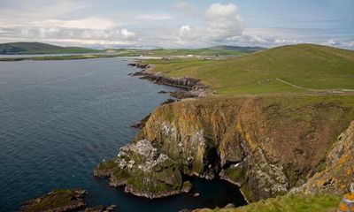
<path fill-rule="evenodd" d="M 109 177 L 110 186 L 125 186 L 126 192 L 150 199 L 188 193 L 191 188 L 189 181 L 182 181 L 179 164 L 149 140 L 120 148 L 116 160 L 100 163 L 94 175 Z"/>

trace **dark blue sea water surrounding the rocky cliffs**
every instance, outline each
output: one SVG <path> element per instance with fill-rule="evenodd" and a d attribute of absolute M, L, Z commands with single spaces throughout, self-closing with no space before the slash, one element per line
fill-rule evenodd
<path fill-rule="evenodd" d="M 177 211 L 244 204 L 236 186 L 192 179 L 193 192 L 150 201 L 94 178 L 96 164 L 133 140 L 130 127 L 171 87 L 127 76 L 124 58 L 0 62 L 0 211 L 54 188 L 81 187 L 89 205 L 119 211 Z"/>

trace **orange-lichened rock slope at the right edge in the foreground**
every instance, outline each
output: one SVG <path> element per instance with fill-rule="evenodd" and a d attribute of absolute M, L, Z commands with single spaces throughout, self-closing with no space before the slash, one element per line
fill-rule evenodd
<path fill-rule="evenodd" d="M 351 183 L 354 183 L 354 121 L 327 154 L 326 168 L 292 192 L 342 195 L 349 192 Z"/>

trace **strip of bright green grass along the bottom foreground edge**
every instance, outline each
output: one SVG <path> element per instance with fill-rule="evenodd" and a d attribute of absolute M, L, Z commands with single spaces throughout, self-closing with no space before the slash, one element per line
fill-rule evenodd
<path fill-rule="evenodd" d="M 200 209 L 199 212 L 335 212 L 341 198 L 327 195 L 306 196 L 289 195 L 280 196 L 266 201 L 250 203 L 241 208 Z"/>

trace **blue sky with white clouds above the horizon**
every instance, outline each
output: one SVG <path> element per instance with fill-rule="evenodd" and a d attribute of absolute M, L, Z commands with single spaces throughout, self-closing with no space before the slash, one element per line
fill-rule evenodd
<path fill-rule="evenodd" d="M 0 0 L 0 43 L 354 49 L 354 0 Z"/>

